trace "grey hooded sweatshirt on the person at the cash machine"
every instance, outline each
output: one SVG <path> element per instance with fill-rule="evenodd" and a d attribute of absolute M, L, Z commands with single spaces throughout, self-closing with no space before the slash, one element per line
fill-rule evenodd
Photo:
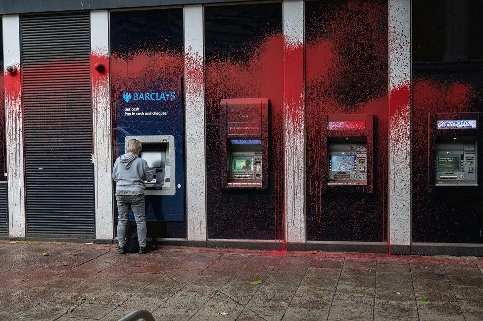
<path fill-rule="evenodd" d="M 146 190 L 144 181 L 153 179 L 147 162 L 138 155 L 124 154 L 114 163 L 112 179 L 116 181 L 117 191 L 137 191 L 144 193 Z"/>

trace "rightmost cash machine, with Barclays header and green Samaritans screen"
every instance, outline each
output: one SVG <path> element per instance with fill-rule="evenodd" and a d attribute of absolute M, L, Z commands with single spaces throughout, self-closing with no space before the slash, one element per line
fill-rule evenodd
<path fill-rule="evenodd" d="M 480 121 L 481 113 L 429 114 L 429 192 L 471 192 L 481 185 Z"/>

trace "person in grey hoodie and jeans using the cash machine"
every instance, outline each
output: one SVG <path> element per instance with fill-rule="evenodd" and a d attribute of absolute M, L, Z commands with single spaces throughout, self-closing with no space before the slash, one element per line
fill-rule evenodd
<path fill-rule="evenodd" d="M 119 156 L 114 163 L 112 179 L 116 182 L 116 201 L 119 211 L 117 238 L 119 254 L 125 254 L 126 228 L 129 211 L 132 209 L 138 226 L 139 254 L 146 251 L 146 214 L 145 214 L 145 181 L 150 182 L 153 174 L 147 162 L 139 157 L 143 145 L 137 139 L 131 139 L 126 147 L 127 154 Z"/>

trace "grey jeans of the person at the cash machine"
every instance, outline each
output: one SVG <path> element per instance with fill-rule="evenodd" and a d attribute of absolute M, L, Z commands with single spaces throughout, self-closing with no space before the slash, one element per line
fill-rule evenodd
<path fill-rule="evenodd" d="M 117 209 L 119 210 L 119 222 L 117 222 L 117 239 L 119 246 L 126 244 L 126 227 L 128 224 L 129 210 L 134 212 L 136 225 L 138 226 L 138 241 L 140 247 L 146 246 L 146 214 L 145 195 L 116 195 Z"/>

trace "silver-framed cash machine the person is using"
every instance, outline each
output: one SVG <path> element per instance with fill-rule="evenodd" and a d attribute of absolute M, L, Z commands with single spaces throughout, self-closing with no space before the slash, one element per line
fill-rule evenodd
<path fill-rule="evenodd" d="M 140 157 L 147 162 L 149 170 L 154 177 L 151 182 L 145 182 L 145 195 L 175 195 L 176 162 L 174 136 L 126 136 L 125 146 L 131 139 L 137 139 L 143 144 Z"/>

